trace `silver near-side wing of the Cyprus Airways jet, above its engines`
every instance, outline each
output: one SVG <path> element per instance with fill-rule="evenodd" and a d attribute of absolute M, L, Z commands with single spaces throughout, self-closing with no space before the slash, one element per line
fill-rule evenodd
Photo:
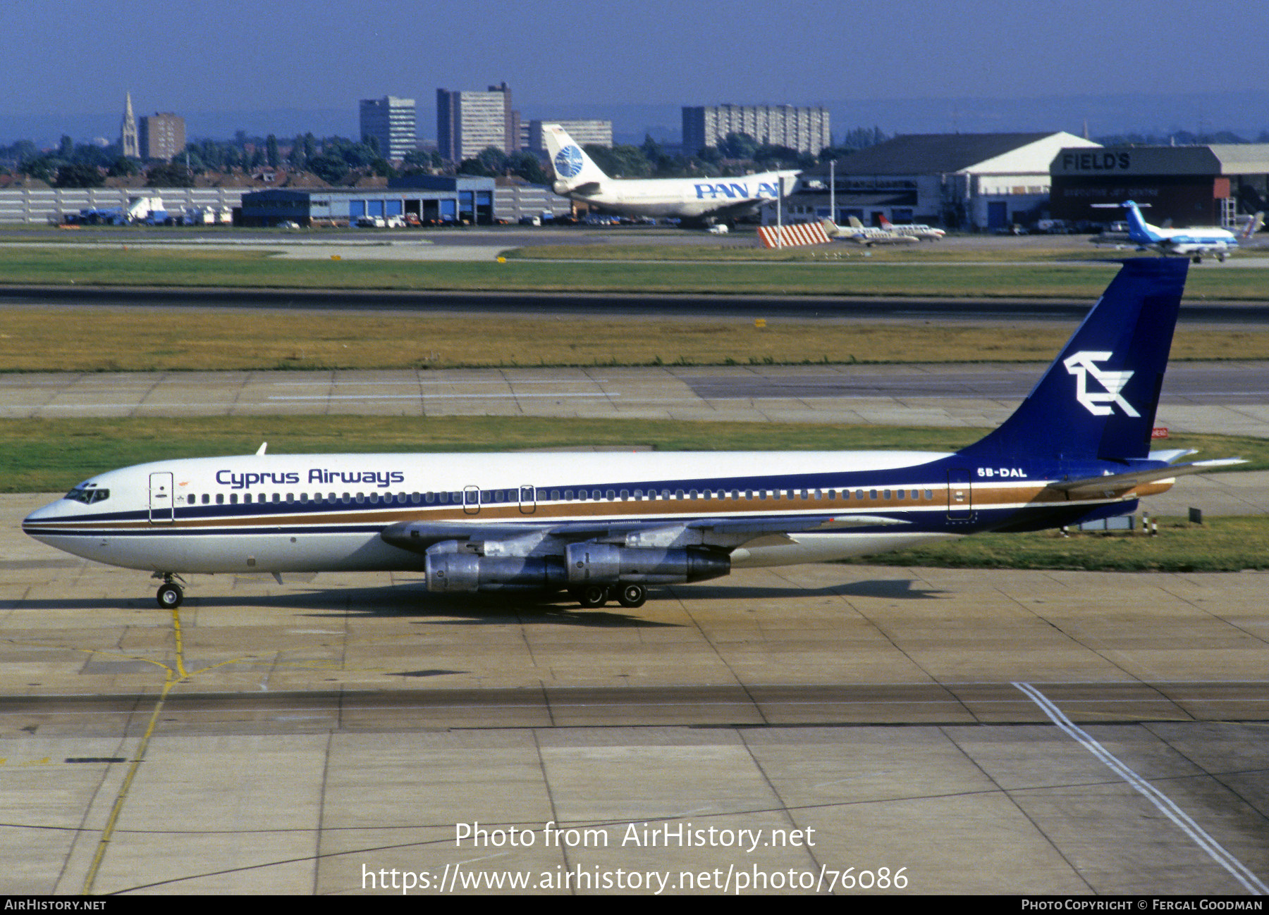
<path fill-rule="evenodd" d="M 562 521 L 547 523 L 497 523 L 462 521 L 400 521 L 379 532 L 393 546 L 412 553 L 448 541 L 494 545 L 496 553 L 552 551 L 552 542 L 594 540 L 631 547 L 713 546 L 735 549 L 754 540 L 789 534 L 849 531 L 853 528 L 906 525 L 909 522 L 883 516 L 819 515 L 764 518 L 695 518 L 674 522 L 657 521 Z M 552 541 L 552 542 L 548 542 Z"/>

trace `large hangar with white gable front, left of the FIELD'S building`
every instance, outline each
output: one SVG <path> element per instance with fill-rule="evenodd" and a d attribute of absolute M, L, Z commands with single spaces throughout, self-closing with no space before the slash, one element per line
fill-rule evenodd
<path fill-rule="evenodd" d="M 978 229 L 1033 222 L 1048 204 L 1053 157 L 1067 148 L 1100 147 L 1065 132 L 900 136 L 836 160 L 832 195 L 827 163 L 802 172 L 788 218 Z"/>

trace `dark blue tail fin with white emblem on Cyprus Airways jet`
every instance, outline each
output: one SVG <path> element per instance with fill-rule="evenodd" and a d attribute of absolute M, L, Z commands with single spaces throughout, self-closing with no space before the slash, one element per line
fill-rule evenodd
<path fill-rule="evenodd" d="M 1188 267 L 1184 257 L 1126 260 L 1022 406 L 961 455 L 987 461 L 1148 456 Z"/>

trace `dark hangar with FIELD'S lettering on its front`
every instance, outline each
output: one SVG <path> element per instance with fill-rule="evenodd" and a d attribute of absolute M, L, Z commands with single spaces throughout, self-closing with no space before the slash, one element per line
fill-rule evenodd
<path fill-rule="evenodd" d="M 1147 221 L 1176 228 L 1232 226 L 1269 209 L 1269 143 L 1062 150 L 1049 171 L 1055 219 L 1122 219 L 1093 204 L 1124 200 L 1148 203 Z"/>

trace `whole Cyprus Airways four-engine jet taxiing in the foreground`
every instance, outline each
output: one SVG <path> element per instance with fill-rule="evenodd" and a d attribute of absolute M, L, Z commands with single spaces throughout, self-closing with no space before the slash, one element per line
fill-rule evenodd
<path fill-rule="evenodd" d="M 563 591 L 643 603 L 650 585 L 820 563 L 977 531 L 1124 515 L 1173 478 L 1151 431 L 1188 262 L 1136 259 L 1000 428 L 914 451 L 268 455 L 98 474 L 30 536 L 154 573 L 412 570 L 433 592 Z"/>

